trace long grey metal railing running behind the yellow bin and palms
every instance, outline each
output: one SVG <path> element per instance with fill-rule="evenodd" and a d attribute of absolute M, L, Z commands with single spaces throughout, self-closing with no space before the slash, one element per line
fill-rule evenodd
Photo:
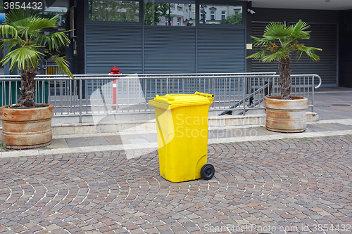
<path fill-rule="evenodd" d="M 210 111 L 231 110 L 241 115 L 249 109 L 263 109 L 260 100 L 268 93 L 279 94 L 279 75 L 275 72 L 119 74 L 118 77 L 112 74 L 76 74 L 74 77 L 37 75 L 36 102 L 54 105 L 54 115 L 80 116 L 82 121 L 84 115 L 153 112 L 148 101 L 156 94 L 212 93 L 215 98 Z M 319 88 L 320 77 L 317 74 L 299 74 L 291 75 L 291 78 L 292 96 L 308 98 L 308 107 L 313 111 L 314 89 Z M 318 86 L 315 86 L 317 82 Z M 1 105 L 18 103 L 20 76 L 0 76 L 0 89 Z"/>

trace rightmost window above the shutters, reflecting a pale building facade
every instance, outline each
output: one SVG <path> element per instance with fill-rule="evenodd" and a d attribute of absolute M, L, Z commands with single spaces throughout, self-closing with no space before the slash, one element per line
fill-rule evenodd
<path fill-rule="evenodd" d="M 241 25 L 242 6 L 199 5 L 199 23 L 213 25 Z"/>

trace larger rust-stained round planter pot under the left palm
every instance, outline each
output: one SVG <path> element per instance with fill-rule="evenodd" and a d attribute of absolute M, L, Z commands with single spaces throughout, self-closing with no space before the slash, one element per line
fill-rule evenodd
<path fill-rule="evenodd" d="M 53 131 L 51 118 L 54 106 L 50 104 L 39 108 L 0 108 L 2 121 L 2 143 L 10 149 L 38 148 L 51 143 Z"/>

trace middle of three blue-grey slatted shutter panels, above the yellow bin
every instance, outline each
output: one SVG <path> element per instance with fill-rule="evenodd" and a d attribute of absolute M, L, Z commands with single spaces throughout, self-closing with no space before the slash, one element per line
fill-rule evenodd
<path fill-rule="evenodd" d="M 144 27 L 144 73 L 194 72 L 194 27 Z"/>

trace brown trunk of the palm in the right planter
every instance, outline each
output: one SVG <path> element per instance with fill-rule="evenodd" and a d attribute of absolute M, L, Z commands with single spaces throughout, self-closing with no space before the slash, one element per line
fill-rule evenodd
<path fill-rule="evenodd" d="M 279 73 L 280 73 L 280 97 L 284 100 L 291 100 L 291 70 L 289 65 L 290 58 L 282 58 L 279 60 Z"/>

